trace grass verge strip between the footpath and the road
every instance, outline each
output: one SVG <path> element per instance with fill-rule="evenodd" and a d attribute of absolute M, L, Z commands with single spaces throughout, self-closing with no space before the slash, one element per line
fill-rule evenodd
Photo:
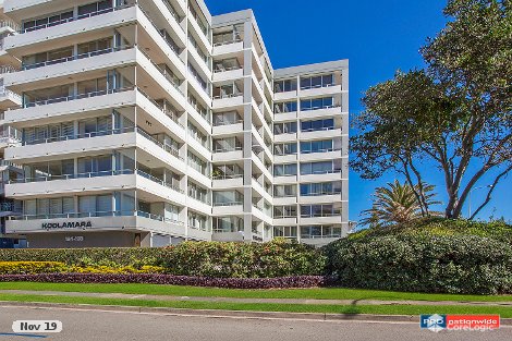
<path fill-rule="evenodd" d="M 71 303 L 94 305 L 122 305 L 142 307 L 172 307 L 192 309 L 223 309 L 251 312 L 291 312 L 291 313 L 330 313 L 330 314 L 381 314 L 381 315 L 419 315 L 419 314 L 499 314 L 502 318 L 512 317 L 512 308 L 499 306 L 436 306 L 436 305 L 308 305 L 272 303 L 228 303 L 228 302 L 161 302 L 124 299 L 96 299 L 72 296 L 39 296 L 0 294 L 0 301 Z"/>

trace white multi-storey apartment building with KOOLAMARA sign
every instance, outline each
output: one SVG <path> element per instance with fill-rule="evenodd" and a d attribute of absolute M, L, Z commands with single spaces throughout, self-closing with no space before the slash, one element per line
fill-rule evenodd
<path fill-rule="evenodd" d="M 253 12 L 4 0 L 3 160 L 29 247 L 348 233 L 346 60 L 273 70 Z M 3 56 L 3 54 L 2 54 Z M 1 57 L 0 57 L 1 58 Z M 17 63 L 17 64 L 16 64 Z"/>

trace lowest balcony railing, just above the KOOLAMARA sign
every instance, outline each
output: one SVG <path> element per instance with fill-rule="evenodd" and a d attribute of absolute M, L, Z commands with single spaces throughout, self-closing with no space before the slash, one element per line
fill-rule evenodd
<path fill-rule="evenodd" d="M 48 214 L 48 215 L 22 215 L 11 217 L 11 220 L 46 220 L 59 218 L 100 218 L 100 217 L 143 217 L 151 220 L 184 224 L 182 221 L 166 218 L 160 215 L 153 215 L 142 210 L 113 210 L 113 211 L 94 211 L 94 212 L 66 212 L 66 214 Z"/>

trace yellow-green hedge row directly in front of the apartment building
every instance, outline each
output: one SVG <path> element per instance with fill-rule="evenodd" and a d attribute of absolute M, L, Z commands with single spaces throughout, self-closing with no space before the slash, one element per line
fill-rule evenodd
<path fill-rule="evenodd" d="M 161 266 L 164 272 L 219 278 L 320 275 L 325 257 L 314 247 L 270 243 L 185 242 L 161 248 L 0 249 L 0 261 L 62 261 L 69 266 Z"/>

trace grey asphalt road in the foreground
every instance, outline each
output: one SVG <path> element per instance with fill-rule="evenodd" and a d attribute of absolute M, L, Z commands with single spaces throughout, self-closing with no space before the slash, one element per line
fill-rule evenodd
<path fill-rule="evenodd" d="M 61 320 L 63 330 L 45 339 L 7 336 L 17 319 Z M 36 334 L 44 336 L 44 334 Z M 512 328 L 496 331 L 420 330 L 413 322 L 306 321 L 282 319 L 214 318 L 127 312 L 72 310 L 58 308 L 0 307 L 0 341 L 341 341 L 341 340 L 511 340 Z"/>

